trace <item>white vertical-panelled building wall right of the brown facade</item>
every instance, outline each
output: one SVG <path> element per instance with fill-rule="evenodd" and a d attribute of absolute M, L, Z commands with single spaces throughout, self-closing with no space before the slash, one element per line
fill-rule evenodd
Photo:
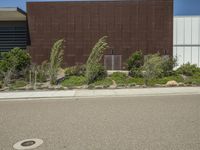
<path fill-rule="evenodd" d="M 178 65 L 189 62 L 200 67 L 200 16 L 175 16 L 173 40 Z"/>

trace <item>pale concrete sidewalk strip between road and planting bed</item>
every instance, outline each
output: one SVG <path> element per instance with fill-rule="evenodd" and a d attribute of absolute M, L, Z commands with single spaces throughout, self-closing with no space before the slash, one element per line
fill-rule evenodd
<path fill-rule="evenodd" d="M 1 92 L 0 100 L 71 97 L 116 97 L 116 96 L 159 96 L 200 94 L 200 87 L 65 90 L 65 91 L 19 91 Z"/>

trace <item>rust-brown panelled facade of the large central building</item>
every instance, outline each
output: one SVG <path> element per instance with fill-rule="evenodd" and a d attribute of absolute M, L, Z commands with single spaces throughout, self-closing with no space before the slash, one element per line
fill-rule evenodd
<path fill-rule="evenodd" d="M 173 0 L 28 2 L 27 14 L 28 49 L 36 63 L 64 38 L 64 65 L 83 64 L 104 35 L 111 46 L 106 55 L 117 55 L 114 69 L 136 50 L 172 55 Z"/>

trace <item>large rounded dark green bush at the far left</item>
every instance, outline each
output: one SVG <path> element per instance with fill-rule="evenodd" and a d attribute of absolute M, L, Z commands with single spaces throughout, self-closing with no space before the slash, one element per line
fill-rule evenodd
<path fill-rule="evenodd" d="M 7 53 L 3 53 L 0 60 L 0 70 L 7 72 L 11 68 L 16 72 L 28 67 L 31 63 L 30 55 L 20 48 L 14 48 Z"/>

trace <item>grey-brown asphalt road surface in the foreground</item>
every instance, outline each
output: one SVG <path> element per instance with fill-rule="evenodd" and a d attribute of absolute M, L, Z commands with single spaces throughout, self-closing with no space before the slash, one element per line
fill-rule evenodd
<path fill-rule="evenodd" d="M 0 150 L 200 150 L 200 95 L 0 102 Z"/>

